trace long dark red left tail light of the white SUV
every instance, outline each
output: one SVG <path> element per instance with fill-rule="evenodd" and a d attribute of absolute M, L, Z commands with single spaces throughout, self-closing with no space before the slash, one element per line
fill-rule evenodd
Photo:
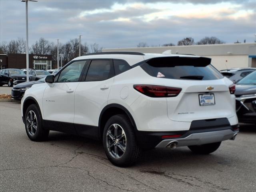
<path fill-rule="evenodd" d="M 149 97 L 176 97 L 181 88 L 157 86 L 157 85 L 134 85 L 134 89 Z"/>

